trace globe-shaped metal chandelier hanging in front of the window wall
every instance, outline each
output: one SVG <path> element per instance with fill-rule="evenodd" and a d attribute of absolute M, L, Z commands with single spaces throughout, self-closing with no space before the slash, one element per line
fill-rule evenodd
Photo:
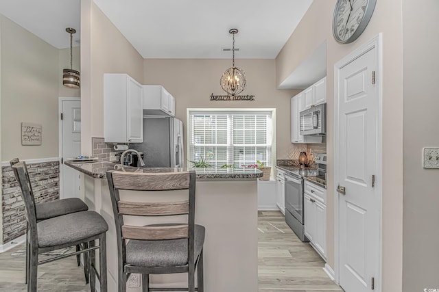
<path fill-rule="evenodd" d="M 229 34 L 233 36 L 233 63 L 232 67 L 228 68 L 219 80 L 222 89 L 227 92 L 227 95 L 238 95 L 246 89 L 246 75 L 244 70 L 235 67 L 235 34 L 238 33 L 237 29 L 230 29 Z"/>

